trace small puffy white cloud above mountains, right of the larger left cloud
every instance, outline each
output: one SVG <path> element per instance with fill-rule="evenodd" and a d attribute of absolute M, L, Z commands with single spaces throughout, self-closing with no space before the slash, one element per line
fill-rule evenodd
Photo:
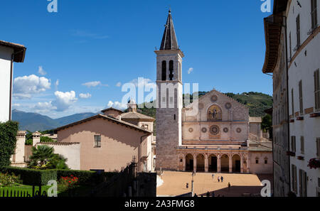
<path fill-rule="evenodd" d="M 52 102 L 58 112 L 63 112 L 68 109 L 73 103 L 77 102 L 75 91 L 70 92 L 55 92 L 56 99 Z"/>

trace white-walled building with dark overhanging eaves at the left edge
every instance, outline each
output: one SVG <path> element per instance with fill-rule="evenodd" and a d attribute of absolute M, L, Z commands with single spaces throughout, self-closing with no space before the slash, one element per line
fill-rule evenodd
<path fill-rule="evenodd" d="M 11 120 L 14 63 L 23 63 L 26 47 L 0 40 L 0 122 Z"/>

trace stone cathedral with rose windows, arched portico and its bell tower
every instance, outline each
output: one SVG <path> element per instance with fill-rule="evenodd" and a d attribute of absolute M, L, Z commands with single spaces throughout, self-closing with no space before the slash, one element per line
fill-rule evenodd
<path fill-rule="evenodd" d="M 156 169 L 272 173 L 261 118 L 216 90 L 183 107 L 182 58 L 171 12 L 157 57 Z"/>

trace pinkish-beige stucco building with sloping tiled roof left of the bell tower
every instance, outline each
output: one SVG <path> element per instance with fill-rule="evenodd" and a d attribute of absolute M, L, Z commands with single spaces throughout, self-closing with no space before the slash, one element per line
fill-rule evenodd
<path fill-rule="evenodd" d="M 128 112 L 114 108 L 102 112 L 56 129 L 58 142 L 43 144 L 68 158 L 73 169 L 119 171 L 135 159 L 139 171 L 153 171 L 154 119 L 137 113 L 133 100 Z"/>

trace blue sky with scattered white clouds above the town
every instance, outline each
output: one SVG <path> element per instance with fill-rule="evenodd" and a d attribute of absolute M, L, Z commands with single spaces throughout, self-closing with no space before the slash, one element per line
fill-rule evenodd
<path fill-rule="evenodd" d="M 57 118 L 124 107 L 120 83 L 156 79 L 154 49 L 169 6 L 185 54 L 184 83 L 272 94 L 272 77 L 261 71 L 263 18 L 271 13 L 262 13 L 260 0 L 58 0 L 58 13 L 47 11 L 49 3 L 1 2 L 0 40 L 27 48 L 14 67 L 15 109 Z"/>

